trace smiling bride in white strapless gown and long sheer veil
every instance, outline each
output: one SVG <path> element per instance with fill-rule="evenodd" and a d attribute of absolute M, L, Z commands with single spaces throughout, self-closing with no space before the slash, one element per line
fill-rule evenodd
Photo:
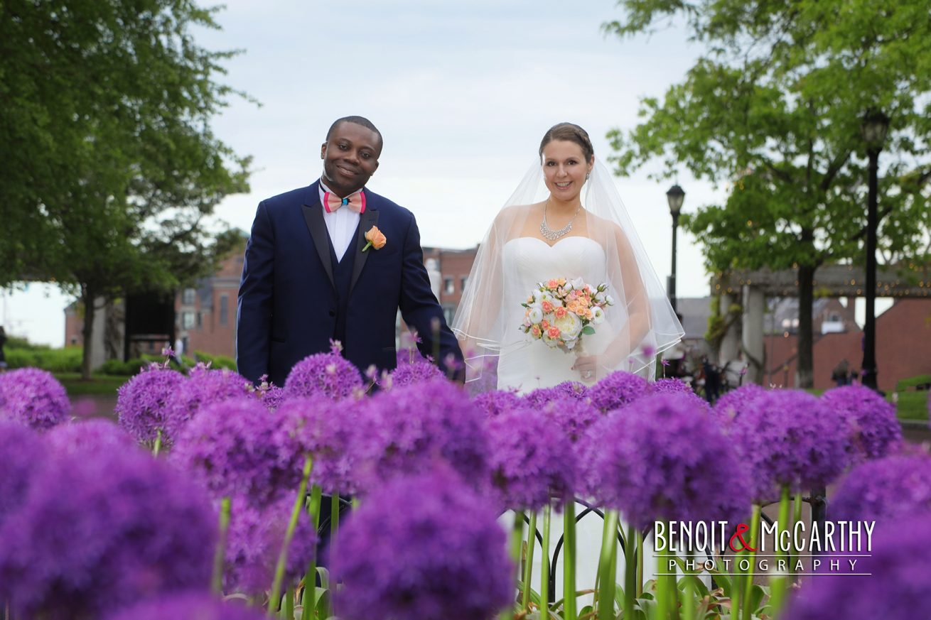
<path fill-rule="evenodd" d="M 611 173 L 572 123 L 546 131 L 539 156 L 479 245 L 452 322 L 466 382 L 526 393 L 564 381 L 593 384 L 612 371 L 652 379 L 656 356 L 681 340 L 682 329 Z M 594 333 L 576 334 L 576 323 L 563 334 L 577 339 L 572 348 L 526 332 L 522 304 L 540 283 L 560 278 L 604 284 L 610 302 Z"/>

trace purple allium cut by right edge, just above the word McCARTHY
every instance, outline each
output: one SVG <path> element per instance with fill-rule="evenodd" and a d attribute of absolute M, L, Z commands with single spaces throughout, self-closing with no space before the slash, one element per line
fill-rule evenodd
<path fill-rule="evenodd" d="M 895 454 L 850 470 L 831 498 L 830 518 L 893 519 L 931 511 L 931 455 Z"/>

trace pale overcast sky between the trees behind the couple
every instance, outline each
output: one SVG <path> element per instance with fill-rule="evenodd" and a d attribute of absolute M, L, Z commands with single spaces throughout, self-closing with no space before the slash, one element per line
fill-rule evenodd
<path fill-rule="evenodd" d="M 258 202 L 317 179 L 319 147 L 331 122 L 364 115 L 385 150 L 369 187 L 411 209 L 425 246 L 468 248 L 483 236 L 536 154 L 547 128 L 586 128 L 596 155 L 605 134 L 633 128 L 639 101 L 681 81 L 699 49 L 671 27 L 635 40 L 606 37 L 614 0 L 230 0 L 220 32 L 196 33 L 211 49 L 239 48 L 224 81 L 261 102 L 234 100 L 214 130 L 254 157 L 248 195 L 216 209 L 249 230 Z M 660 277 L 669 273 L 671 219 L 666 190 L 649 170 L 616 179 Z M 683 210 L 722 199 L 684 170 Z M 681 297 L 708 294 L 694 239 L 680 230 Z M 61 345 L 71 300 L 33 284 L 7 296 L 7 331 Z"/>

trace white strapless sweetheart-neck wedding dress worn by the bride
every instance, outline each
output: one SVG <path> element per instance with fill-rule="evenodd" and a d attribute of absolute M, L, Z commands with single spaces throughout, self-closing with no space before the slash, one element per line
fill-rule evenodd
<path fill-rule="evenodd" d="M 564 381 L 584 379 L 573 371 L 578 355 L 593 355 L 607 345 L 600 336 L 608 330 L 595 328 L 595 333 L 583 336 L 582 351 L 550 348 L 542 340 L 531 341 L 520 330 L 524 319 L 521 303 L 539 282 L 564 277 L 581 277 L 595 287 L 608 282 L 604 250 L 587 236 L 564 236 L 553 245 L 533 236 L 519 236 L 505 244 L 502 252 L 504 269 L 504 342 L 515 343 L 502 349 L 498 359 L 498 389 L 514 389 L 522 393 L 538 387 L 551 387 Z"/>

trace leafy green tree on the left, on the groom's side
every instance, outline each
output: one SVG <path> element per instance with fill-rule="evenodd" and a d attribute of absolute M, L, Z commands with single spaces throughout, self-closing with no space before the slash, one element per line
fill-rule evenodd
<path fill-rule="evenodd" d="M 54 279 L 85 307 L 90 373 L 95 301 L 172 290 L 209 272 L 229 236 L 209 231 L 223 196 L 248 190 L 249 159 L 211 118 L 234 52 L 198 47 L 216 9 L 187 0 L 0 4 L 0 199 L 9 230 L 0 283 Z M 218 243 L 217 239 L 222 243 Z M 224 245 L 225 244 L 225 245 Z"/>

